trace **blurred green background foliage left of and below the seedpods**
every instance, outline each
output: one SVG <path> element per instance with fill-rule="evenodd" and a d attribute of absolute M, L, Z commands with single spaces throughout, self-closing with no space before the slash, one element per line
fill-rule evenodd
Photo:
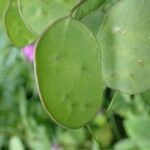
<path fill-rule="evenodd" d="M 90 124 L 97 142 L 86 127 L 65 130 L 52 123 L 38 97 L 33 65 L 6 36 L 5 2 L 0 0 L 0 150 L 149 150 L 149 90 L 133 96 L 106 89 Z"/>

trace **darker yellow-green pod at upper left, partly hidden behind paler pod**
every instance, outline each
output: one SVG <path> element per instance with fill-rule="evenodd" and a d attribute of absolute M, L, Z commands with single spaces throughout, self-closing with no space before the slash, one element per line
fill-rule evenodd
<path fill-rule="evenodd" d="M 16 46 L 25 46 L 35 40 L 35 35 L 27 29 L 19 14 L 17 0 L 10 1 L 5 15 L 5 26 L 10 40 Z"/>

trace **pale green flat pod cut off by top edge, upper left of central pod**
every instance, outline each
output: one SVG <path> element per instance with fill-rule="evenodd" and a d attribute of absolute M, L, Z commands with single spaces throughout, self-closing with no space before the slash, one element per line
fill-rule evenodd
<path fill-rule="evenodd" d="M 20 13 L 28 27 L 37 35 L 50 24 L 69 14 L 79 0 L 18 0 Z"/>

